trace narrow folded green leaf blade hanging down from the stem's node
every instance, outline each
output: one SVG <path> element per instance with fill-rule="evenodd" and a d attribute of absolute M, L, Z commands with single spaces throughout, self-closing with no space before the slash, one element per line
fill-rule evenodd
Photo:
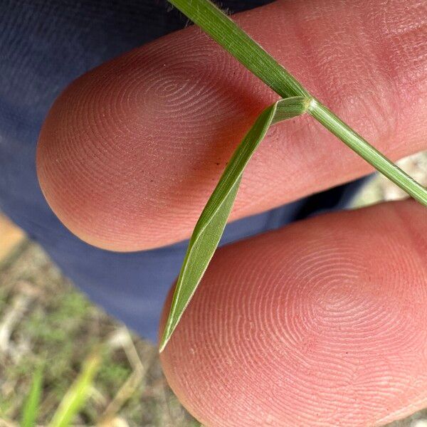
<path fill-rule="evenodd" d="M 243 170 L 258 144 L 260 144 L 270 125 L 302 115 L 307 111 L 309 104 L 310 100 L 305 97 L 289 97 L 270 105 L 260 114 L 251 130 L 249 130 L 236 149 L 236 152 L 234 152 L 221 179 L 218 181 L 216 189 L 214 189 L 201 213 L 191 236 L 176 283 L 169 318 L 159 346 L 160 352 L 162 352 L 176 325 L 178 325 L 214 255 L 236 199 Z"/>

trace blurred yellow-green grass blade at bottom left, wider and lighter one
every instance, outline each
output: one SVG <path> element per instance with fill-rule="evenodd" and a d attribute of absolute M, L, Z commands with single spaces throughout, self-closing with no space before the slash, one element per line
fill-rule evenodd
<path fill-rule="evenodd" d="M 50 427 L 67 427 L 85 404 L 93 379 L 100 365 L 100 354 L 93 353 L 85 360 L 83 369 L 60 402 Z"/>

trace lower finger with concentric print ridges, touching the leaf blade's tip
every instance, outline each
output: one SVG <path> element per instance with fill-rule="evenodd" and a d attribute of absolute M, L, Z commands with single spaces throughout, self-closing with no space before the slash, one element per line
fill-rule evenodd
<path fill-rule="evenodd" d="M 221 248 L 161 354 L 182 404 L 248 427 L 377 426 L 425 406 L 426 220 L 383 204 Z"/>

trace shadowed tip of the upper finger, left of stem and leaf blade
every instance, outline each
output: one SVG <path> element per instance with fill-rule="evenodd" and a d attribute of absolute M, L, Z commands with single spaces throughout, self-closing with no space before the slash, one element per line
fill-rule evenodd
<path fill-rule="evenodd" d="M 36 159 L 60 221 L 113 251 L 188 238 L 233 147 L 273 95 L 231 61 L 187 28 L 71 83 L 43 123 Z M 233 79 L 243 71 L 242 89 L 221 77 L 224 68 L 234 68 Z"/>

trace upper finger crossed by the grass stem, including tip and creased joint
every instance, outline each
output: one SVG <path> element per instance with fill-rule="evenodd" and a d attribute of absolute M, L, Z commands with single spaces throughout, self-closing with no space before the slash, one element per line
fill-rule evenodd
<path fill-rule="evenodd" d="M 313 94 L 396 159 L 426 147 L 423 1 L 281 1 L 236 16 Z M 231 152 L 277 99 L 199 28 L 96 68 L 59 97 L 38 176 L 59 218 L 102 248 L 189 237 Z M 248 166 L 232 219 L 366 174 L 310 117 L 276 125 Z"/>

